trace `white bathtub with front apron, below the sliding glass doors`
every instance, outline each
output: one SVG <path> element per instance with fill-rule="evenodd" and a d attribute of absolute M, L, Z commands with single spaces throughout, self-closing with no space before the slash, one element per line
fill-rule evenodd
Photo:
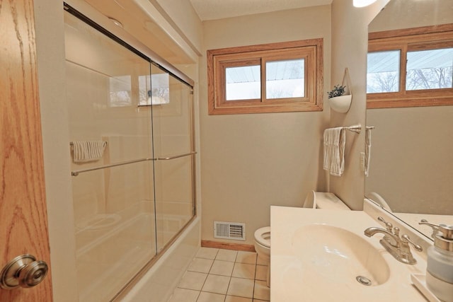
<path fill-rule="evenodd" d="M 110 301 L 155 257 L 156 243 L 160 252 L 189 219 L 188 216 L 159 214 L 155 232 L 154 214 L 139 211 L 147 209 L 146 205 L 141 202 L 139 207 L 134 205 L 119 214 L 100 214 L 89 223 L 79 223 L 76 257 L 80 301 Z M 130 301 L 168 299 L 200 246 L 199 220 L 194 219 L 164 255 L 159 255 L 159 260 L 144 274 L 138 287 L 135 286 L 137 289 L 134 287 L 127 294 Z M 153 289 L 152 295 L 142 294 L 143 291 L 148 293 L 149 288 Z M 131 295 L 133 298 L 129 298 Z M 120 297 L 115 301 L 123 301 L 124 297 Z"/>

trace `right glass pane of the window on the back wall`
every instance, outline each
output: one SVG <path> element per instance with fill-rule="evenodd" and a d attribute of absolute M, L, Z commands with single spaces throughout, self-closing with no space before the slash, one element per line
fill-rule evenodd
<path fill-rule="evenodd" d="M 304 59 L 266 63 L 266 98 L 303 98 Z"/>

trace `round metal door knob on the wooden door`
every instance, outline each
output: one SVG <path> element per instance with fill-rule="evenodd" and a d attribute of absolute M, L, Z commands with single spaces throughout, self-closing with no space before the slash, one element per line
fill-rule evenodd
<path fill-rule="evenodd" d="M 33 255 L 18 256 L 1 269 L 0 288 L 15 289 L 18 286 L 36 286 L 47 275 L 47 269 L 47 263 L 37 261 Z"/>

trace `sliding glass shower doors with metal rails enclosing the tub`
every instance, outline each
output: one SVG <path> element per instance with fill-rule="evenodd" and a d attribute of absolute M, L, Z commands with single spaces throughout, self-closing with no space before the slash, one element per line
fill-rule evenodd
<path fill-rule="evenodd" d="M 195 218 L 193 82 L 65 11 L 79 300 L 111 301 Z"/>

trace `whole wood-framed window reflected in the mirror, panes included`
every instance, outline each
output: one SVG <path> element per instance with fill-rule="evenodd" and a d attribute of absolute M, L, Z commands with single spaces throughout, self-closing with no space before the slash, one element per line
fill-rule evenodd
<path fill-rule="evenodd" d="M 370 33 L 367 108 L 453 105 L 453 24 Z"/>

